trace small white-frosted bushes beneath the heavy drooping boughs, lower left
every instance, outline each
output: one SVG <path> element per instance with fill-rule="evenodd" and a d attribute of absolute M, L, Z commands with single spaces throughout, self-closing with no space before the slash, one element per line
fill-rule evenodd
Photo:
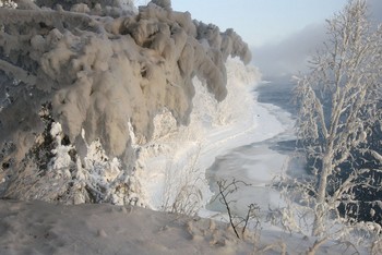
<path fill-rule="evenodd" d="M 48 126 L 23 160 L 24 167 L 4 183 L 4 197 L 64 204 L 136 204 L 120 160 L 109 159 L 99 141 L 89 145 L 84 142 L 86 155 L 81 159 L 61 124 L 51 121 Z"/>

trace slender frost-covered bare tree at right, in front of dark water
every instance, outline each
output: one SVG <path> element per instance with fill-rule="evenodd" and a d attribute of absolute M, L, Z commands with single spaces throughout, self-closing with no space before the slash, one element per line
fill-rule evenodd
<path fill-rule="evenodd" d="M 350 0 L 327 21 L 327 35 L 295 90 L 298 138 L 315 177 L 301 184 L 313 199 L 313 235 L 325 231 L 338 203 L 357 203 L 356 189 L 381 186 L 381 151 L 368 137 L 381 126 L 382 28 L 371 27 L 366 1 Z M 356 163 L 361 158 L 373 163 Z"/>

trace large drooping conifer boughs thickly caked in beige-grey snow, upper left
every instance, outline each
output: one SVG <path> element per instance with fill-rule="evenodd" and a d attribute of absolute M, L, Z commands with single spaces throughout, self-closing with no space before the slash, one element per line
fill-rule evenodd
<path fill-rule="evenodd" d="M 141 143 L 151 138 L 152 120 L 164 107 L 178 124 L 188 123 L 193 76 L 224 99 L 224 61 L 232 54 L 248 62 L 247 45 L 232 31 L 220 33 L 156 2 L 118 16 L 109 14 L 106 2 L 81 3 L 82 9 L 0 9 L 0 66 L 22 86 L 13 92 L 15 102 L 2 110 L 1 139 L 15 139 L 25 153 L 33 137 L 22 130 L 40 132 L 38 108 L 51 101 L 71 142 L 84 127 L 88 142 L 99 137 L 108 154 L 117 156 L 129 146 L 129 121 Z M 21 104 L 27 106 L 23 111 Z M 12 113 L 17 118 L 7 118 Z M 25 121 L 20 125 L 14 119 Z"/>

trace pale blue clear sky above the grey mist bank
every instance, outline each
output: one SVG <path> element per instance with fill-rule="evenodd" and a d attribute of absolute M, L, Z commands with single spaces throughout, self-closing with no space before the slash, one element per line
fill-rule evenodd
<path fill-rule="evenodd" d="M 277 42 L 338 12 L 347 0 L 172 0 L 172 9 L 234 28 L 250 46 Z"/>

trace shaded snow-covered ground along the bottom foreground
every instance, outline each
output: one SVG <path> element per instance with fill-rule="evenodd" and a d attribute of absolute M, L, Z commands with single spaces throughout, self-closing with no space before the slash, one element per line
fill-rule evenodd
<path fill-rule="evenodd" d="M 303 254 L 313 242 L 277 230 L 238 240 L 225 223 L 140 207 L 0 201 L 2 255 Z M 332 242 L 318 252 L 353 253 L 351 247 Z"/>

